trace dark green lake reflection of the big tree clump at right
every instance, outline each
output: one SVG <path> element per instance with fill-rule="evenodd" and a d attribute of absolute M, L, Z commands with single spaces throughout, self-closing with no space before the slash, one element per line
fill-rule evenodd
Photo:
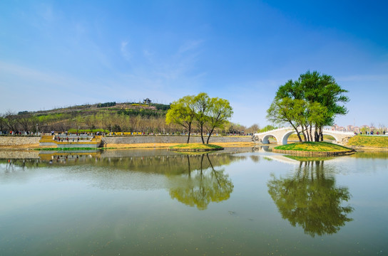
<path fill-rule="evenodd" d="M 301 162 L 294 176 L 272 178 L 268 193 L 282 218 L 300 225 L 306 234 L 334 234 L 352 220 L 347 215 L 353 208 L 342 206 L 351 197 L 348 188 L 335 186 L 335 178 L 325 174 L 323 161 Z"/>

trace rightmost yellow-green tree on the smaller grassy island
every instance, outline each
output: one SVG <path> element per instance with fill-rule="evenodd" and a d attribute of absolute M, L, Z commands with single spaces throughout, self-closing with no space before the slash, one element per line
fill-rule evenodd
<path fill-rule="evenodd" d="M 206 129 L 208 129 L 208 140 L 209 144 L 210 136 L 212 136 L 214 129 L 222 129 L 224 124 L 228 122 L 228 119 L 232 117 L 233 109 L 230 107 L 229 101 L 213 97 L 209 101 L 208 107 L 208 122 L 206 123 Z"/>

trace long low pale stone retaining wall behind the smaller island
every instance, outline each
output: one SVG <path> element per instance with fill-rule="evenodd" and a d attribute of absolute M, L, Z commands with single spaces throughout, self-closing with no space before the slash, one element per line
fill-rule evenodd
<path fill-rule="evenodd" d="M 203 138 L 208 139 L 207 137 Z M 187 136 L 130 136 L 130 137 L 103 137 L 103 144 L 139 144 L 139 143 L 186 143 Z M 246 137 L 210 137 L 209 143 L 217 142 L 252 142 L 250 136 Z M 190 137 L 190 143 L 202 143 L 200 137 Z"/>

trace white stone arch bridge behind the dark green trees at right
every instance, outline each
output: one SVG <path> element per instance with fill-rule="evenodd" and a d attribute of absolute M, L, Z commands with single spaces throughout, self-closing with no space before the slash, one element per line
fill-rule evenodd
<path fill-rule="evenodd" d="M 301 129 L 298 129 L 301 130 Z M 314 134 L 315 129 L 312 129 L 312 134 Z M 295 134 L 295 129 L 292 127 L 283 127 L 279 129 L 274 129 L 268 132 L 255 133 L 252 136 L 252 141 L 262 144 L 269 144 L 270 137 L 275 137 L 277 144 L 285 145 L 287 144 L 287 139 L 291 134 Z M 354 136 L 353 132 L 339 132 L 332 131 L 331 129 L 323 129 L 323 135 L 330 135 L 335 138 L 336 142 L 339 144 L 344 144 L 347 142 L 347 139 Z"/>

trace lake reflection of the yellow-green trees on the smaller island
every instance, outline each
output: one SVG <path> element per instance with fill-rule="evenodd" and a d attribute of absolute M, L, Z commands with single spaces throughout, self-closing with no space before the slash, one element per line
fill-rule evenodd
<path fill-rule="evenodd" d="M 220 202 L 230 197 L 233 183 L 228 174 L 224 174 L 224 169 L 215 170 L 209 154 L 200 156 L 200 168 L 194 171 L 190 169 L 190 157 L 187 156 L 187 159 L 188 174 L 180 176 L 179 185 L 170 188 L 171 198 L 205 210 L 210 202 Z"/>

